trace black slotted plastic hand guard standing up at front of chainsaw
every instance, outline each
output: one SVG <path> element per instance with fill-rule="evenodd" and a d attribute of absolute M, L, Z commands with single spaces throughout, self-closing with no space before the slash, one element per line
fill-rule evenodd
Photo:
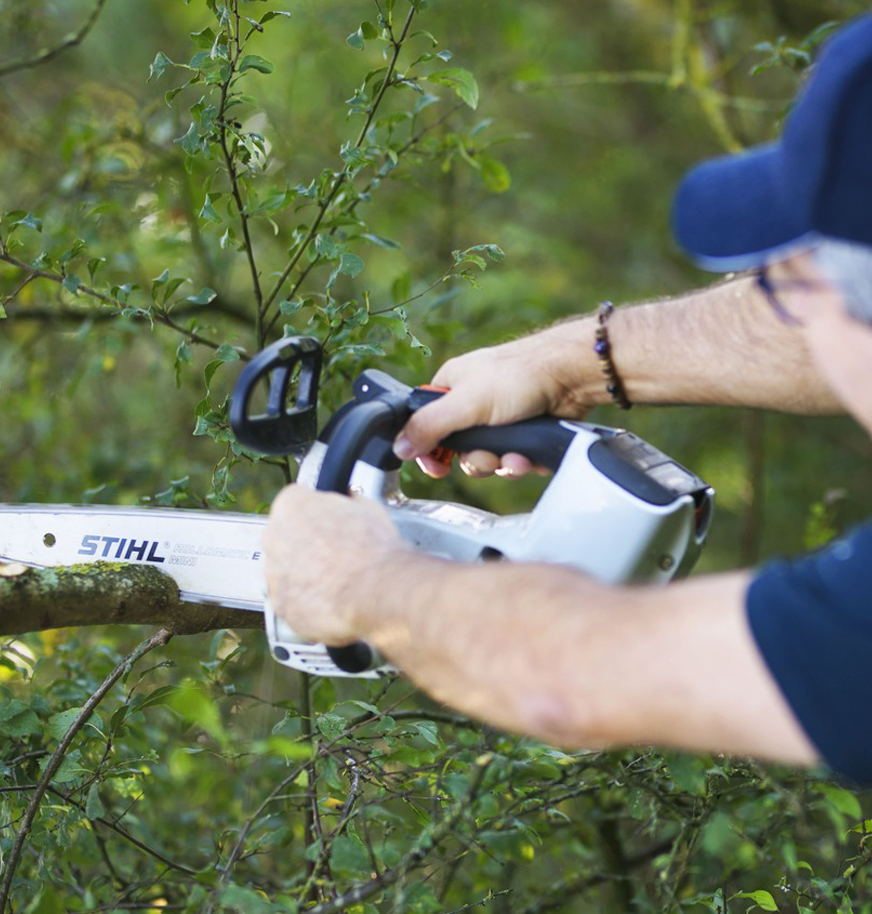
<path fill-rule="evenodd" d="M 278 340 L 243 369 L 230 401 L 230 427 L 237 439 L 260 454 L 290 454 L 318 435 L 318 380 L 321 344 L 309 336 Z M 294 369 L 300 366 L 296 402 L 287 408 Z M 251 415 L 258 385 L 269 377 L 266 413 Z"/>

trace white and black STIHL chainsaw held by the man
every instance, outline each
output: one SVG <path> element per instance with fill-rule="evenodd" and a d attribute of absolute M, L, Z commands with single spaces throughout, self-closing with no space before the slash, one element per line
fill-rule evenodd
<path fill-rule="evenodd" d="M 541 417 L 450 435 L 447 452 L 520 453 L 554 475 L 531 511 L 500 516 L 462 504 L 407 498 L 391 445 L 412 412 L 442 392 L 364 371 L 354 397 L 317 432 L 320 343 L 288 337 L 242 371 L 231 398 L 238 440 L 261 454 L 293 455 L 297 484 L 383 503 L 415 548 L 463 562 L 573 566 L 605 583 L 667 582 L 696 561 L 714 491 L 631 432 Z M 255 403 L 265 397 L 265 411 Z M 0 562 L 35 567 L 145 562 L 187 602 L 262 612 L 273 657 L 325 676 L 394 672 L 368 645 L 301 643 L 264 593 L 266 517 L 219 511 L 0 505 Z"/>

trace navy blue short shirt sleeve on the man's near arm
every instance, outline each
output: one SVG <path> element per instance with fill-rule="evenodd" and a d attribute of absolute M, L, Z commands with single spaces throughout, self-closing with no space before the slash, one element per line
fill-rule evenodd
<path fill-rule="evenodd" d="M 765 566 L 751 631 L 801 726 L 836 773 L 872 784 L 872 523 Z"/>

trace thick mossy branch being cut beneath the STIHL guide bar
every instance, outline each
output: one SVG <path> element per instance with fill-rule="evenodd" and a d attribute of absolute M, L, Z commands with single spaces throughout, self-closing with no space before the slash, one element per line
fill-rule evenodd
<path fill-rule="evenodd" d="M 244 609 L 183 603 L 175 581 L 149 565 L 93 562 L 58 568 L 0 564 L 0 635 L 77 625 L 160 625 L 173 634 L 261 628 Z"/>

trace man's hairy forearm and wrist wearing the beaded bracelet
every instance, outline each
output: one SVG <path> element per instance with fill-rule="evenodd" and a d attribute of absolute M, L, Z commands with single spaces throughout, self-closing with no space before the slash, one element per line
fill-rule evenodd
<path fill-rule="evenodd" d="M 588 317 L 543 331 L 555 345 L 555 377 L 578 406 L 609 399 L 592 354 L 595 327 Z M 812 367 L 802 333 L 779 320 L 748 277 L 618 308 L 608 331 L 633 403 L 843 412 Z"/>

